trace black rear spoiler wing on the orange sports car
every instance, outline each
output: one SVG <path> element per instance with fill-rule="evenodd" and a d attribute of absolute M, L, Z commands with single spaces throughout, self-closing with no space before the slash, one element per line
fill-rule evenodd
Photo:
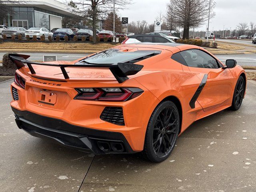
<path fill-rule="evenodd" d="M 16 64 L 16 67 L 18 69 L 25 66 L 25 64 L 28 65 L 28 68 L 31 72 L 31 74 L 36 74 L 33 65 L 44 65 L 44 66 L 54 66 L 54 67 L 60 67 L 62 74 L 65 79 L 69 79 L 68 73 L 66 72 L 66 67 L 91 67 L 91 68 L 109 68 L 118 83 L 122 83 L 126 80 L 128 80 L 129 75 L 135 75 L 140 70 L 142 70 L 143 65 L 138 64 L 132 64 L 132 63 L 117 63 L 117 64 L 48 64 L 48 63 L 39 63 L 39 62 L 31 62 L 28 61 L 27 58 L 29 58 L 29 55 L 22 55 L 22 54 L 9 54 L 10 60 Z"/>

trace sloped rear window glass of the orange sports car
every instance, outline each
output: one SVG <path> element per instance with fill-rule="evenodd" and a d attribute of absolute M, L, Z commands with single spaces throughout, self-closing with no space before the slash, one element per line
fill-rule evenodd
<path fill-rule="evenodd" d="M 117 64 L 144 57 L 153 53 L 154 52 L 149 51 L 123 52 L 118 49 L 109 49 L 99 54 L 90 56 L 89 58 L 86 58 L 80 62 L 89 64 Z M 76 64 L 81 64 L 80 62 Z"/>

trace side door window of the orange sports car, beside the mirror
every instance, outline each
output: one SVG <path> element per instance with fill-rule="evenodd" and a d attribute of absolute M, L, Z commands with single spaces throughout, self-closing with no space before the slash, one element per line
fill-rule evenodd
<path fill-rule="evenodd" d="M 189 67 L 198 67 L 198 68 L 219 68 L 218 63 L 215 58 L 209 54 L 198 50 L 190 49 L 180 52 L 181 56 L 186 61 L 186 64 Z"/>

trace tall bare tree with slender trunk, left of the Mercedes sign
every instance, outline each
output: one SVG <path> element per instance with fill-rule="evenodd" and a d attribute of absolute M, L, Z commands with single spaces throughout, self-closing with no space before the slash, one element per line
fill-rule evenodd
<path fill-rule="evenodd" d="M 84 17 L 92 18 L 93 42 L 96 43 L 96 20 L 106 18 L 113 11 L 114 0 L 74 0 L 79 13 Z M 116 10 L 127 8 L 132 0 L 115 0 Z"/>

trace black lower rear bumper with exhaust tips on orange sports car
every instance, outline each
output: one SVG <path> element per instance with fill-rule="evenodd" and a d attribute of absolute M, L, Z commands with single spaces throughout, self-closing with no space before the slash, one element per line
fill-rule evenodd
<path fill-rule="evenodd" d="M 62 146 L 93 154 L 134 153 L 120 132 L 94 130 L 68 124 L 12 107 L 18 128 L 32 136 L 48 139 Z M 72 130 L 72 132 L 70 132 Z"/>

